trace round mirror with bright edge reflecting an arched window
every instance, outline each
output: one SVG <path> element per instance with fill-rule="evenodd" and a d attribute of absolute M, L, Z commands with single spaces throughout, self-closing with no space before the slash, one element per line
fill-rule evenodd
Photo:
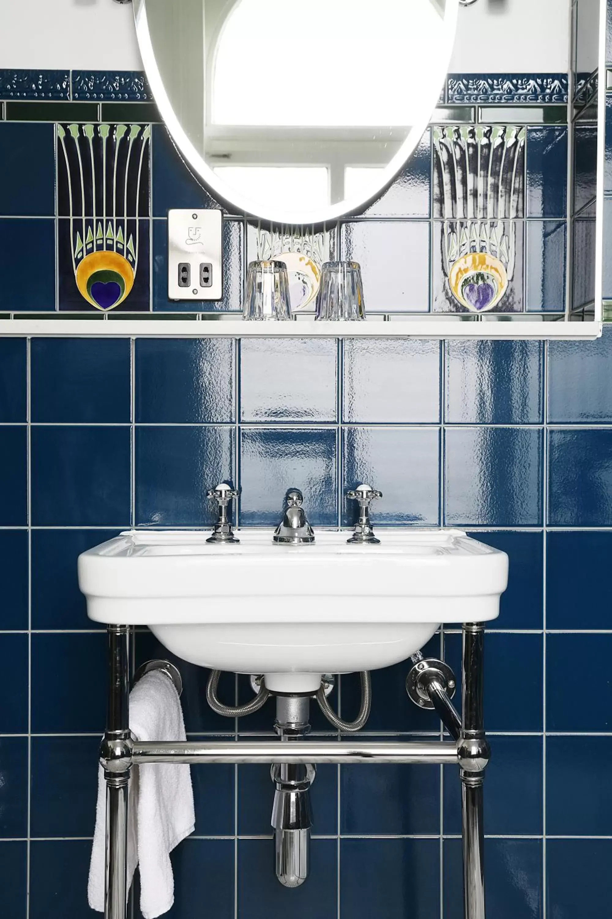
<path fill-rule="evenodd" d="M 135 0 L 155 101 L 217 195 L 281 223 L 399 172 L 448 71 L 459 0 Z"/>

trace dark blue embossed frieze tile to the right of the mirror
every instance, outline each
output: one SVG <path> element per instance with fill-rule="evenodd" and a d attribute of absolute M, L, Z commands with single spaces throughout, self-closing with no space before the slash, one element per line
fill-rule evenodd
<path fill-rule="evenodd" d="M 567 102 L 566 74 L 449 74 L 448 102 L 525 104 Z"/>

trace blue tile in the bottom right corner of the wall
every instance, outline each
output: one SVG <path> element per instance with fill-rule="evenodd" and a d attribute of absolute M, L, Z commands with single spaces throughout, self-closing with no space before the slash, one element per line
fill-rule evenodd
<path fill-rule="evenodd" d="M 612 839 L 550 839 L 546 904 L 555 919 L 605 916 L 612 901 Z"/>

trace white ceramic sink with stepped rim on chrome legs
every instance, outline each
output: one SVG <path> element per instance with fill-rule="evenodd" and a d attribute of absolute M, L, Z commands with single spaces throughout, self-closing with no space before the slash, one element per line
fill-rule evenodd
<path fill-rule="evenodd" d="M 274 545 L 272 530 L 133 530 L 79 557 L 96 622 L 147 625 L 192 664 L 264 674 L 275 691 L 315 691 L 324 673 L 375 670 L 417 652 L 440 623 L 499 614 L 505 552 L 456 529 L 381 529 L 380 545 L 317 531 Z"/>

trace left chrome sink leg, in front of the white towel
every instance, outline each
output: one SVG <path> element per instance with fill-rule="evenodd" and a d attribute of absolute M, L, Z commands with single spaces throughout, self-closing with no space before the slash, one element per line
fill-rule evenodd
<path fill-rule="evenodd" d="M 108 626 L 108 712 L 100 762 L 106 778 L 105 919 L 127 919 L 129 629 Z"/>

